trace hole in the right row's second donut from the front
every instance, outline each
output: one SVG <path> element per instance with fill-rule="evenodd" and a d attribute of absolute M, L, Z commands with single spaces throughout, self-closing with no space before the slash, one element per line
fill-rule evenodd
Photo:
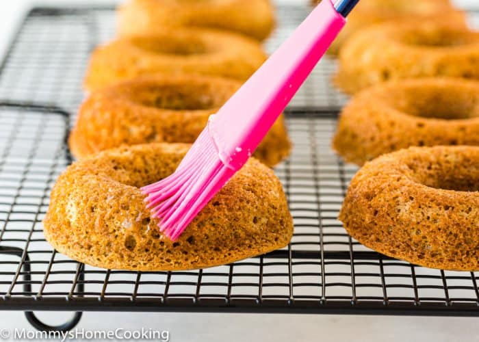
<path fill-rule="evenodd" d="M 467 88 L 457 91 L 448 87 L 405 88 L 389 98 L 390 104 L 406 114 L 419 118 L 441 120 L 467 120 L 479 117 L 476 102 L 479 94 L 471 93 Z M 424 123 L 419 126 L 424 127 Z"/>

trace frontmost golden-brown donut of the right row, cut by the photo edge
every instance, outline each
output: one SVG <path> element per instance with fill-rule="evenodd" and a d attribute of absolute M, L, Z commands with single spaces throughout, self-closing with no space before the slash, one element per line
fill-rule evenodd
<path fill-rule="evenodd" d="M 339 220 L 361 244 L 417 265 L 479 270 L 479 147 L 411 147 L 366 163 Z"/>

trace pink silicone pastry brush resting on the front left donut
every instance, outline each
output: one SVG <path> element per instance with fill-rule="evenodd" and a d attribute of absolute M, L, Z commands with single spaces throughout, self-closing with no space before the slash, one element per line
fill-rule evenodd
<path fill-rule="evenodd" d="M 248 160 L 346 23 L 358 0 L 323 0 L 244 83 L 166 179 L 142 188 L 160 231 L 176 240 Z"/>

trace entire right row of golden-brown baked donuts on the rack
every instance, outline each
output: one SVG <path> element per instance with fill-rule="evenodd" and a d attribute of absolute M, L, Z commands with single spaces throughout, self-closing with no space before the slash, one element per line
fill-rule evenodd
<path fill-rule="evenodd" d="M 416 265 L 474 271 L 479 32 L 465 18 L 447 0 L 362 0 L 332 51 L 335 83 L 354 94 L 333 148 L 365 164 L 339 215 L 352 237 Z"/>

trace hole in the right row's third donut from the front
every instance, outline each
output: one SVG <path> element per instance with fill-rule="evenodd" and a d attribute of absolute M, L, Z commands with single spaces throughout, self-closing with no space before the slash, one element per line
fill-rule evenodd
<path fill-rule="evenodd" d="M 413 29 L 405 30 L 398 36 L 400 42 L 419 47 L 458 47 L 474 42 L 474 37 L 454 29 Z"/>

